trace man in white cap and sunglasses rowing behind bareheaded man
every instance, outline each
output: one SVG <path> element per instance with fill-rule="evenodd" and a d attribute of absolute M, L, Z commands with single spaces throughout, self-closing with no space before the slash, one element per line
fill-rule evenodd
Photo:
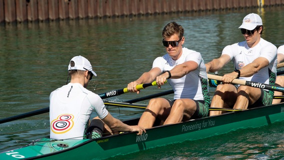
<path fill-rule="evenodd" d="M 244 41 L 227 45 L 219 58 L 206 63 L 206 71 L 221 69 L 230 60 L 235 70 L 224 74 L 222 84 L 216 87 L 211 107 L 233 107 L 247 109 L 269 105 L 273 99 L 273 91 L 246 85 L 233 85 L 235 78 L 259 83 L 274 84 L 276 78 L 276 46 L 261 38 L 263 25 L 258 14 L 247 14 L 240 28 Z M 210 115 L 221 111 L 210 111 Z"/>

